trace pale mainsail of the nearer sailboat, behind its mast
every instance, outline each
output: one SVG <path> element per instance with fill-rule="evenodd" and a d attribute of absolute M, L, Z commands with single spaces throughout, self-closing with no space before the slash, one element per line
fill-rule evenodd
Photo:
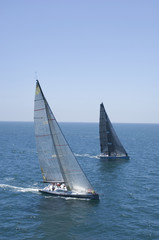
<path fill-rule="evenodd" d="M 37 82 L 34 104 L 34 125 L 38 158 L 45 182 L 63 182 L 60 166 L 52 144 L 50 125 L 48 124 L 47 104 Z M 50 120 L 54 116 L 50 116 Z M 52 120 L 53 121 L 53 120 Z"/>

